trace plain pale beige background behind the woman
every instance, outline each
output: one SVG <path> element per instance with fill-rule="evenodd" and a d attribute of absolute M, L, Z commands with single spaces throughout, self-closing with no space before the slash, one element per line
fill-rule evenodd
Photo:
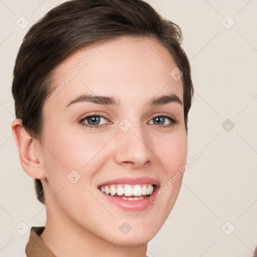
<path fill-rule="evenodd" d="M 62 2 L 0 1 L 0 256 L 23 256 L 29 232 L 18 233 L 20 222 L 29 227 L 45 225 L 45 207 L 36 200 L 33 179 L 21 168 L 12 135 L 11 82 L 17 51 L 29 27 Z M 252 256 L 257 245 L 257 2 L 149 3 L 182 28 L 195 87 L 188 160 L 198 151 L 203 156 L 187 170 L 174 209 L 149 243 L 148 254 Z M 21 16 L 30 23 L 23 30 L 16 25 Z M 235 25 L 227 29 L 233 21 Z M 235 124 L 229 132 L 222 127 L 226 119 Z M 26 232 L 26 225 L 22 227 L 20 232 Z"/>

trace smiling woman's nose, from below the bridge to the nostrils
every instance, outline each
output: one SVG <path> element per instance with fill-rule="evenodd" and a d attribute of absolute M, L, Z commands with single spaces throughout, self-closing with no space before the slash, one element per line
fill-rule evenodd
<path fill-rule="evenodd" d="M 114 159 L 119 165 L 140 168 L 151 162 L 151 141 L 142 126 L 133 125 L 127 132 L 119 131 Z"/>

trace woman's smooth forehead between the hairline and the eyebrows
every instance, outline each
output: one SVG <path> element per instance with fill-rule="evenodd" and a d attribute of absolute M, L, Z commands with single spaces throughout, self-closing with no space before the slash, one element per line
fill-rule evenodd
<path fill-rule="evenodd" d="M 112 95 L 121 101 L 175 93 L 183 101 L 182 79 L 170 75 L 175 68 L 172 55 L 157 41 L 119 37 L 68 57 L 55 71 L 52 92 L 56 91 L 54 100 L 64 104 L 81 93 Z"/>

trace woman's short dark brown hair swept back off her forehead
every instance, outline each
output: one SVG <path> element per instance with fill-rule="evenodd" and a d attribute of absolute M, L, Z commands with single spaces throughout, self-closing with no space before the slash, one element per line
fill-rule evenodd
<path fill-rule="evenodd" d="M 118 36 L 142 36 L 166 47 L 183 72 L 183 102 L 186 133 L 193 97 L 191 69 L 181 47 L 181 29 L 164 19 L 142 0 L 71 0 L 50 10 L 34 24 L 17 55 L 12 92 L 16 117 L 28 133 L 41 140 L 42 109 L 51 90 L 55 68 L 75 51 Z M 45 204 L 39 179 L 35 180 L 38 200 Z"/>

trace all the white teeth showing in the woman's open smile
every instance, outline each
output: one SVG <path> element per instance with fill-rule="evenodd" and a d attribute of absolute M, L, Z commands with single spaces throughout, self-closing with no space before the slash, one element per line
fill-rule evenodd
<path fill-rule="evenodd" d="M 121 185 L 114 186 L 113 185 L 109 185 L 109 186 L 101 186 L 99 188 L 101 190 L 101 192 L 106 193 L 106 194 L 110 194 L 111 196 L 124 196 L 121 197 L 121 199 L 124 200 L 142 200 L 145 199 L 146 197 L 148 197 L 149 195 L 153 194 L 154 192 L 154 185 L 134 185 L 134 187 L 132 187 L 129 184 L 124 185 L 124 187 L 122 187 Z M 136 197 L 125 197 L 125 196 L 136 196 Z"/>

